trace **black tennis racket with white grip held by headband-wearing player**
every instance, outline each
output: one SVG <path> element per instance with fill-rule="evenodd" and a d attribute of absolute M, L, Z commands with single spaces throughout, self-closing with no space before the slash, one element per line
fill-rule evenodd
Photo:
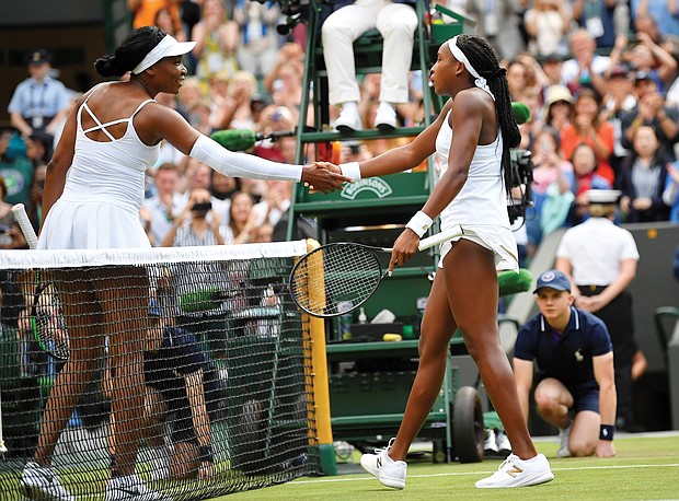
<path fill-rule="evenodd" d="M 456 225 L 424 238 L 417 248 L 425 250 L 463 234 L 462 228 Z M 331 318 L 352 312 L 368 301 L 389 276 L 378 253 L 391 252 L 349 242 L 322 245 L 303 255 L 292 268 L 288 281 L 290 295 L 301 310 L 315 317 Z"/>

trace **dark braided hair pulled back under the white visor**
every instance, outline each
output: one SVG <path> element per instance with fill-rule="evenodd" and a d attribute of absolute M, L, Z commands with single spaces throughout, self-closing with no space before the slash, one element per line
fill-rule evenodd
<path fill-rule="evenodd" d="M 165 32 L 158 26 L 137 28 L 125 37 L 114 54 L 94 61 L 94 69 L 102 77 L 123 77 L 134 70 L 164 37 Z"/>

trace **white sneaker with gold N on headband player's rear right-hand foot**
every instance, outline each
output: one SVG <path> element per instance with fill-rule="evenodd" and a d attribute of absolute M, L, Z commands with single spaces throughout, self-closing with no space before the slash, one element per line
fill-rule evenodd
<path fill-rule="evenodd" d="M 479 489 L 502 487 L 526 487 L 549 482 L 554 479 L 550 469 L 550 462 L 544 454 L 538 454 L 532 459 L 519 459 L 518 456 L 509 456 L 499 465 L 497 471 L 487 478 L 476 482 Z"/>

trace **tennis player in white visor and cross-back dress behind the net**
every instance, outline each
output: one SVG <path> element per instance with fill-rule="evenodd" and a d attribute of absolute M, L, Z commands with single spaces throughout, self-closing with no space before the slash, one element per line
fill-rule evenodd
<path fill-rule="evenodd" d="M 336 167 L 281 164 L 228 151 L 179 113 L 158 104 L 153 100 L 158 93 L 179 93 L 186 75 L 182 55 L 194 45 L 146 26 L 130 33 L 113 55 L 96 60 L 102 77 L 122 77 L 128 71 L 131 75 L 127 82 L 96 85 L 77 102 L 67 119 L 47 168 L 38 248 L 149 247 L 139 208 L 145 171 L 156 162 L 162 140 L 228 176 L 301 180 L 324 193 L 350 180 Z M 54 451 L 108 337 L 116 427 L 104 499 L 169 499 L 149 489 L 135 474 L 143 404 L 142 353 L 149 328 L 145 268 L 56 270 L 54 275 L 70 357 L 46 403 L 34 458 L 24 467 L 24 493 L 30 499 L 74 501 L 51 467 Z M 200 478 L 210 475 L 209 469 L 199 471 Z M 80 489 L 95 490 L 97 482 L 92 486 Z"/>

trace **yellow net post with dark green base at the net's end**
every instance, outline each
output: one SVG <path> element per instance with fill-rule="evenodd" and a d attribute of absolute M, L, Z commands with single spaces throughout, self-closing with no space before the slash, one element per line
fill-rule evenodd
<path fill-rule="evenodd" d="M 312 240 L 307 240 L 307 252 L 320 247 L 320 244 Z M 313 258 L 322 259 L 323 256 L 317 253 Z M 310 276 L 309 282 L 323 283 L 323 267 L 312 267 L 318 269 L 318 275 Z M 319 287 L 310 287 L 308 294 L 312 303 L 322 304 L 325 302 L 324 290 Z M 327 376 L 327 357 L 325 353 L 325 321 L 323 318 L 313 317 L 307 313 L 303 314 L 304 323 L 309 325 L 309 334 L 311 337 L 311 372 L 313 375 L 313 400 L 315 403 L 315 423 L 318 435 L 319 456 L 321 458 L 321 469 L 325 475 L 337 475 L 337 464 L 335 461 L 335 448 L 333 447 L 333 431 L 331 426 L 330 412 L 330 389 Z M 309 419 L 314 416 L 310 413 Z"/>

